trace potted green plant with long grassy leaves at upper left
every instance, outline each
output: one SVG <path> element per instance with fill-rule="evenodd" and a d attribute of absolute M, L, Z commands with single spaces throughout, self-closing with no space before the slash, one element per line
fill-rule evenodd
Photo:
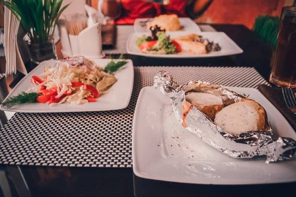
<path fill-rule="evenodd" d="M 53 34 L 62 12 L 63 0 L 0 0 L 20 21 L 28 34 L 31 61 L 40 63 L 56 58 Z"/>

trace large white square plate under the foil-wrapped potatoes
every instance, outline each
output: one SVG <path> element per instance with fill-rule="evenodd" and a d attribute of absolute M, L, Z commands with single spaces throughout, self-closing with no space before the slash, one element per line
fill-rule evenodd
<path fill-rule="evenodd" d="M 275 135 L 296 139 L 282 114 L 256 89 L 229 87 L 249 95 L 267 111 Z M 234 159 L 201 141 L 177 121 L 170 99 L 145 87 L 133 121 L 134 173 L 142 178 L 194 184 L 262 184 L 296 181 L 296 155 L 266 164 L 264 157 Z"/>

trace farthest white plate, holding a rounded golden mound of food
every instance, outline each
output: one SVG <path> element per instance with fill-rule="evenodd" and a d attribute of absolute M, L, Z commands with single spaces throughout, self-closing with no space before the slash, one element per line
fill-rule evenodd
<path fill-rule="evenodd" d="M 143 33 L 143 32 L 150 32 L 149 29 L 147 29 L 147 26 L 141 26 L 141 21 L 147 21 L 147 20 L 153 20 L 153 18 L 141 18 L 141 19 L 136 19 L 134 23 L 134 30 L 137 33 Z M 174 31 L 174 32 L 201 32 L 200 28 L 198 25 L 192 21 L 190 18 L 179 18 L 179 21 L 183 28 L 179 31 Z M 167 31 L 169 32 L 169 31 Z"/>

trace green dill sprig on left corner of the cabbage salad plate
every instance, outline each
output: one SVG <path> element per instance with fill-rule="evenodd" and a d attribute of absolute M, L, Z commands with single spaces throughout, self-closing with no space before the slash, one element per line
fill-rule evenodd
<path fill-rule="evenodd" d="M 1 104 L 6 106 L 8 109 L 14 105 L 22 105 L 25 103 L 34 103 L 37 102 L 37 97 L 39 97 L 37 93 L 25 93 L 13 97 L 9 97 L 5 99 Z"/>

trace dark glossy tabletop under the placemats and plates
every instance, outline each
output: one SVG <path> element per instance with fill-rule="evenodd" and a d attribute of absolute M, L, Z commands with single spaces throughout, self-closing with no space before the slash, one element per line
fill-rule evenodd
<path fill-rule="evenodd" d="M 221 58 L 169 60 L 128 56 L 134 66 L 247 66 L 268 80 L 272 48 L 242 25 L 213 25 L 226 33 L 243 54 Z M 139 178 L 132 168 L 1 166 L 6 168 L 13 196 L 33 197 L 215 197 L 288 196 L 296 183 L 266 185 L 195 185 Z M 20 173 L 21 172 L 21 173 Z M 26 181 L 25 185 L 22 177 Z M 0 194 L 1 195 L 1 194 Z M 295 195 L 294 195 L 295 196 Z"/>

